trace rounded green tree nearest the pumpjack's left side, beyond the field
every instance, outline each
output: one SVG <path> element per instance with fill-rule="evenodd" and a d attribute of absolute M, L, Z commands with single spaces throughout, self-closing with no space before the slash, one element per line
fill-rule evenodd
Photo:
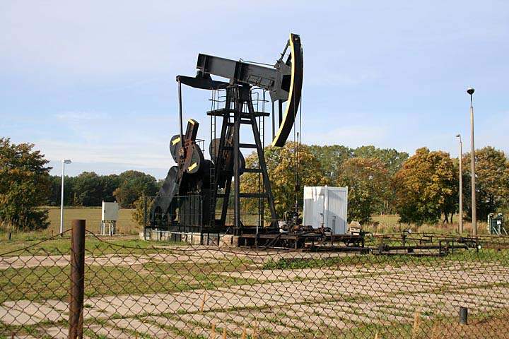
<path fill-rule="evenodd" d="M 158 191 L 156 178 L 144 172 L 129 170 L 119 175 L 119 186 L 113 192 L 122 208 L 132 208 L 139 197 L 155 196 Z"/>

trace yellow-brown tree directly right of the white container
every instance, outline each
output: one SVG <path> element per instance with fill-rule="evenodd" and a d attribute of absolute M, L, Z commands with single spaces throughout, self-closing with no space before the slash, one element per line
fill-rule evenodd
<path fill-rule="evenodd" d="M 353 157 L 341 165 L 337 186 L 348 186 L 348 219 L 366 223 L 385 201 L 390 177 L 385 164 L 375 157 Z"/>

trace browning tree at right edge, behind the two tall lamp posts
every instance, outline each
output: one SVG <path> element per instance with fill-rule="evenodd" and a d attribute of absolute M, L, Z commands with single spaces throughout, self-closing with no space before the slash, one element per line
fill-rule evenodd
<path fill-rule="evenodd" d="M 486 146 L 475 152 L 476 215 L 486 220 L 489 213 L 498 213 L 509 202 L 509 160 L 502 150 Z M 464 217 L 472 218 L 470 153 L 463 156 Z"/>

